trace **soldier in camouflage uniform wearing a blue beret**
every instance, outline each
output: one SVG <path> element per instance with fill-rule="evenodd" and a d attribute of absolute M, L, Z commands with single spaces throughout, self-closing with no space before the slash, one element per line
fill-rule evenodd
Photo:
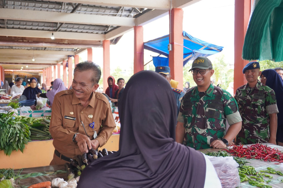
<path fill-rule="evenodd" d="M 235 94 L 243 119 L 242 129 L 236 139 L 237 144 L 276 144 L 279 112 L 276 97 L 270 87 L 258 80 L 261 75 L 259 68 L 259 62 L 250 62 L 243 68 L 248 83 L 239 87 Z"/>

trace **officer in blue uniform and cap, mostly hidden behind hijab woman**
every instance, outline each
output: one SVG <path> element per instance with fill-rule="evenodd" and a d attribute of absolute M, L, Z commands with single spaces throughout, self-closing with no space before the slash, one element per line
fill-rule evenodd
<path fill-rule="evenodd" d="M 171 74 L 170 74 L 170 67 L 169 66 L 157 66 L 157 67 L 155 67 L 155 72 L 161 74 L 164 78 L 166 78 L 166 80 L 168 80 L 168 82 L 170 84 Z M 179 90 L 179 89 L 176 89 L 176 88 L 172 88 L 172 91 L 174 93 L 174 96 L 175 96 L 176 102 L 177 102 L 177 116 L 178 116 L 180 105 L 181 105 L 181 100 L 182 100 L 182 97 L 184 96 L 184 93 L 182 92 L 182 90 Z"/>

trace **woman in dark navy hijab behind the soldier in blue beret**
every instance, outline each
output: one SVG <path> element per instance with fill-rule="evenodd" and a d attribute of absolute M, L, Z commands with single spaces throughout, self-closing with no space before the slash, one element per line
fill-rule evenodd
<path fill-rule="evenodd" d="M 269 86 L 275 92 L 276 103 L 279 113 L 277 113 L 277 145 L 283 146 L 283 80 L 273 69 L 266 69 L 261 72 L 260 81 Z"/>

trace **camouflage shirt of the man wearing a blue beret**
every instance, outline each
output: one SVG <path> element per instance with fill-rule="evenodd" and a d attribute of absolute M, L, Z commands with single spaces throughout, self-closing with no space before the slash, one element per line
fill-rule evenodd
<path fill-rule="evenodd" d="M 253 88 L 248 84 L 237 89 L 235 99 L 243 119 L 237 144 L 265 143 L 269 140 L 269 115 L 278 113 L 274 91 L 258 81 Z"/>

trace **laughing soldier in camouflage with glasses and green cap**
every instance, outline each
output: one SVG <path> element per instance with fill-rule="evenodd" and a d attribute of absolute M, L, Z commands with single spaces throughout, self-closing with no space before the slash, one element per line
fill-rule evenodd
<path fill-rule="evenodd" d="M 214 70 L 209 59 L 198 57 L 190 71 L 197 86 L 181 101 L 176 141 L 195 149 L 226 148 L 242 125 L 237 103 L 229 92 L 211 83 Z M 226 119 L 231 126 L 225 134 Z"/>

